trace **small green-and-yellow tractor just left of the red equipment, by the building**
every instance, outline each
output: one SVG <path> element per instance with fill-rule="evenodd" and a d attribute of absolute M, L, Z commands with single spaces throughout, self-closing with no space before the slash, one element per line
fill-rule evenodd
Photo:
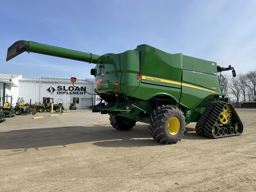
<path fill-rule="evenodd" d="M 30 104 L 23 104 L 22 102 L 23 98 L 18 98 L 16 105 L 14 107 L 14 111 L 16 115 L 20 115 L 20 114 L 31 114 L 32 115 L 36 115 L 36 109 L 34 107 L 34 105 L 31 104 L 31 100 L 30 100 Z"/>

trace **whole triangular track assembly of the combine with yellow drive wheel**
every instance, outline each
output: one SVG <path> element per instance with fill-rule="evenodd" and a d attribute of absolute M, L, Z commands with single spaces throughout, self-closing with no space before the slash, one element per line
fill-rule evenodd
<path fill-rule="evenodd" d="M 196 133 L 213 139 L 239 136 L 244 126 L 232 104 L 211 102 L 196 124 Z"/>

